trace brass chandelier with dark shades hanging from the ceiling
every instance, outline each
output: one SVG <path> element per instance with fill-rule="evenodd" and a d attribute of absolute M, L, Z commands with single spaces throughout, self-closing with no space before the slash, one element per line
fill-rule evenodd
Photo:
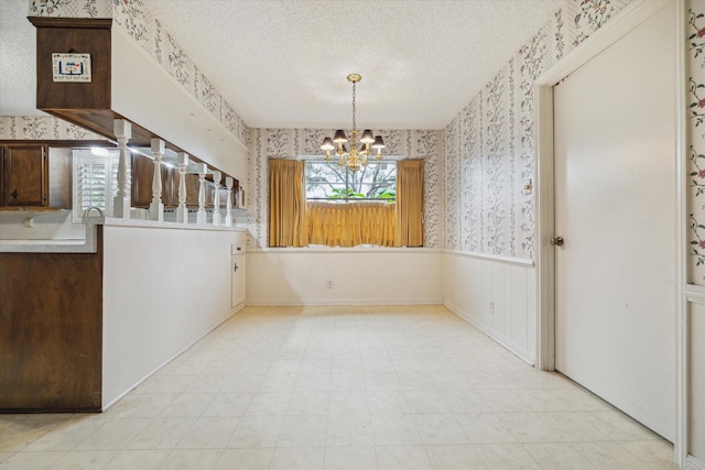
<path fill-rule="evenodd" d="M 352 130 L 350 131 L 350 146 L 347 147 L 348 138 L 343 129 L 335 131 L 333 139 L 325 138 L 321 144 L 321 150 L 326 151 L 326 162 L 332 162 L 330 151 L 335 150 L 338 155 L 338 166 L 340 168 L 347 167 L 348 171 L 355 173 L 360 168 L 364 168 L 368 164 L 368 157 L 372 154 L 370 149 L 377 150 L 375 159 L 379 162 L 383 159 L 382 149 L 384 149 L 384 141 L 381 135 L 372 135 L 372 131 L 366 129 L 360 136 L 359 143 L 361 146 L 358 150 L 358 131 L 356 122 L 356 108 L 355 108 L 355 86 L 362 79 L 359 74 L 350 74 L 347 76 L 348 81 L 352 83 Z M 337 144 L 337 150 L 336 145 Z"/>

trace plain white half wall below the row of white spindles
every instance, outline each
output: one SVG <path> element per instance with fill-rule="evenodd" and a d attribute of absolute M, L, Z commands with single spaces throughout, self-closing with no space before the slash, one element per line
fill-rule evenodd
<path fill-rule="evenodd" d="M 238 237 L 104 228 L 104 408 L 231 315 L 230 245 Z"/>

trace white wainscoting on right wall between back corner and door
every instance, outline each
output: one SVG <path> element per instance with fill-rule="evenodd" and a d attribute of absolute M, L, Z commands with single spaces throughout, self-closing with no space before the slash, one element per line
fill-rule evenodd
<path fill-rule="evenodd" d="M 444 304 L 530 363 L 535 362 L 536 277 L 533 262 L 446 251 Z"/>

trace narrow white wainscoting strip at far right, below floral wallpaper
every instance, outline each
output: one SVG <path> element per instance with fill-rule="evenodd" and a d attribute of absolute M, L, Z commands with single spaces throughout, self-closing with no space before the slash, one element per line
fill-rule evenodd
<path fill-rule="evenodd" d="M 687 460 L 686 469 L 705 470 L 705 288 L 686 287 Z"/>

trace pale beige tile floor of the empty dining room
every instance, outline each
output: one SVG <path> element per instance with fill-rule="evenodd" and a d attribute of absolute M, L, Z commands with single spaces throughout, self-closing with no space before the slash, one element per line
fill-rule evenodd
<path fill-rule="evenodd" d="M 442 306 L 247 307 L 106 413 L 0 416 L 0 469 L 671 469 L 672 452 Z"/>

